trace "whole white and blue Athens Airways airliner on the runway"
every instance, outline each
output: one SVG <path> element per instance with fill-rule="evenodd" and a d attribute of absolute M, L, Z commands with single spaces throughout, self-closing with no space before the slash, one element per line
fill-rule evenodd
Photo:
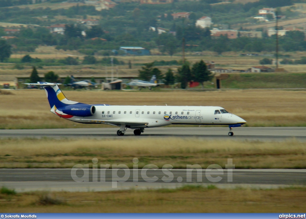
<path fill-rule="evenodd" d="M 127 128 L 140 135 L 145 128 L 171 124 L 228 125 L 240 127 L 246 121 L 219 106 L 110 106 L 84 104 L 68 100 L 58 84 L 38 82 L 46 91 L 51 112 L 70 121 L 86 124 L 119 126 L 117 135 L 124 135 Z"/>

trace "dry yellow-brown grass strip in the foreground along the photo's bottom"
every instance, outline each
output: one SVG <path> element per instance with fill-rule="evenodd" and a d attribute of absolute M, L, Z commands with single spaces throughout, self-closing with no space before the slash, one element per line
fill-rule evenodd
<path fill-rule="evenodd" d="M 292 213 L 305 210 L 305 189 L 224 190 L 200 187 L 156 191 L 53 192 L 62 205 L 39 204 L 44 193 L 0 195 L 12 213 Z"/>

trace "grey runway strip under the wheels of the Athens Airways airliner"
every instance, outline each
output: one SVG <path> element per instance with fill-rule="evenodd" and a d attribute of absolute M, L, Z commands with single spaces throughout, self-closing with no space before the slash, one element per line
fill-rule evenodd
<path fill-rule="evenodd" d="M 297 139 L 306 141 L 306 127 L 239 127 L 233 128 L 234 136 L 228 136 L 229 128 L 223 127 L 162 127 L 147 128 L 140 136 L 128 129 L 124 136 L 116 134 L 118 128 L 67 128 L 0 130 L 0 138 L 203 138 L 283 141 Z"/>

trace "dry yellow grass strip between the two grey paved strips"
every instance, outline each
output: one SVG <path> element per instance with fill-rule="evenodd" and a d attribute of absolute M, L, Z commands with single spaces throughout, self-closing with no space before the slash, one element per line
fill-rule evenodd
<path fill-rule="evenodd" d="M 125 164 L 139 168 L 171 164 L 186 169 L 218 164 L 225 168 L 233 158 L 236 169 L 304 169 L 306 143 L 207 141 L 203 139 L 0 139 L 1 168 L 72 168 L 75 164 Z"/>

